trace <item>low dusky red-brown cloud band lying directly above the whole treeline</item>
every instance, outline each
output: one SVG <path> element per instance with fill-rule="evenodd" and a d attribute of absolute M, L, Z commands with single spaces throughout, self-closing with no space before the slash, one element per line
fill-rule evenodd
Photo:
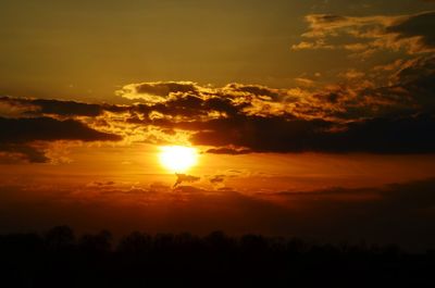
<path fill-rule="evenodd" d="M 61 222 L 79 230 L 103 226 L 115 233 L 223 229 L 334 242 L 365 239 L 415 250 L 435 242 L 434 185 L 430 178 L 384 187 L 256 195 L 191 186 L 175 192 L 171 187 L 55 187 L 53 193 L 47 186 L 1 185 L 0 226 L 38 229 Z"/>

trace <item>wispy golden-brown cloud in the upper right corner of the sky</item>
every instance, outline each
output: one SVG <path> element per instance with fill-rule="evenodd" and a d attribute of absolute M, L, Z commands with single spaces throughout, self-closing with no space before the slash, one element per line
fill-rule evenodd
<path fill-rule="evenodd" d="M 343 16 L 310 14 L 306 40 L 294 50 L 346 49 L 369 55 L 378 50 L 403 50 L 410 54 L 435 51 L 435 12 L 399 16 Z M 340 39 L 340 41 L 338 41 Z M 345 39 L 345 42 L 343 40 Z"/>

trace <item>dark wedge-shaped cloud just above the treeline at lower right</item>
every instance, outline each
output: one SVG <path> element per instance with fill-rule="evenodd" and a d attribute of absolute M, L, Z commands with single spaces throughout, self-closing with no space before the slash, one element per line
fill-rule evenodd
<path fill-rule="evenodd" d="M 295 226 L 303 229 L 307 225 L 307 233 L 315 227 L 325 237 L 341 235 L 343 239 L 364 238 L 421 249 L 432 247 L 435 240 L 434 187 L 435 179 L 431 178 L 380 188 L 332 188 L 275 196 L 303 218 L 304 224 Z"/>

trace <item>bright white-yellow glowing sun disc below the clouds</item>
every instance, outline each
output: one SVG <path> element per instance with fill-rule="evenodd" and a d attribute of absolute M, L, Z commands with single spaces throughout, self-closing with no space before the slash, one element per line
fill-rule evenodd
<path fill-rule="evenodd" d="M 184 173 L 198 162 L 198 151 L 185 146 L 160 147 L 160 163 L 172 173 Z"/>

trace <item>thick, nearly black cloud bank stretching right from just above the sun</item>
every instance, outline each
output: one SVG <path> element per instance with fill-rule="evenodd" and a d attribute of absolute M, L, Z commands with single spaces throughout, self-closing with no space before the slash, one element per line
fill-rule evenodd
<path fill-rule="evenodd" d="M 435 152 L 433 114 L 378 117 L 336 126 L 321 120 L 239 117 L 210 121 L 194 135 L 196 145 L 234 146 L 254 152 Z M 224 148 L 225 149 L 225 148 Z M 234 150 L 211 152 L 234 153 Z M 246 151 L 247 152 L 247 151 Z"/>

